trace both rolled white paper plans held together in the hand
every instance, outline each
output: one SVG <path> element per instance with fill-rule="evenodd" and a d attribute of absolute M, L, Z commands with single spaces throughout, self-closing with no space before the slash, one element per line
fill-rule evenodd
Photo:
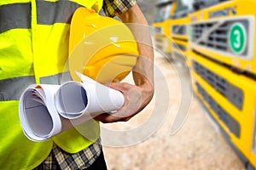
<path fill-rule="evenodd" d="M 32 84 L 21 94 L 20 123 L 28 139 L 49 139 L 95 116 L 122 107 L 124 96 L 119 91 L 84 75 L 79 76 L 83 82 Z"/>

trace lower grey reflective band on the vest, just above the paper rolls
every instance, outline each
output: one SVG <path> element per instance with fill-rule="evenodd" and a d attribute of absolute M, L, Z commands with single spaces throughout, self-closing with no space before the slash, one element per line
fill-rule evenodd
<path fill-rule="evenodd" d="M 41 77 L 42 84 L 61 84 L 71 80 L 69 72 L 55 74 L 49 77 Z M 0 101 L 19 100 L 22 92 L 31 84 L 35 77 L 14 77 L 0 80 Z"/>

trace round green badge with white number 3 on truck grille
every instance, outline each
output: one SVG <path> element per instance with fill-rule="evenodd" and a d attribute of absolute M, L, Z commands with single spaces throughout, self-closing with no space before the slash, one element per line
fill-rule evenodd
<path fill-rule="evenodd" d="M 247 46 L 247 32 L 243 25 L 235 23 L 230 27 L 230 48 L 236 54 L 244 52 Z"/>

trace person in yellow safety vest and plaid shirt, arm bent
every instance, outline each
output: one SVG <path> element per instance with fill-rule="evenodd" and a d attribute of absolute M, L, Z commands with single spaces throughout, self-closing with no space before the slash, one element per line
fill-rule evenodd
<path fill-rule="evenodd" d="M 68 54 L 69 24 L 81 6 L 125 23 L 147 26 L 136 0 L 1 0 L 0 2 L 0 167 L 1 169 L 106 169 L 98 140 L 85 139 L 74 128 L 54 139 L 32 142 L 20 127 L 20 94 L 32 83 L 58 84 Z M 148 41 L 148 30 L 132 27 L 138 42 Z M 154 94 L 153 50 L 138 43 L 135 85 L 114 82 L 125 95 L 125 105 L 101 122 L 127 121 L 148 105 Z M 146 61 L 147 60 L 147 61 Z M 148 62 L 150 61 L 150 62 Z M 130 93 L 130 92 L 136 93 Z M 137 102 L 131 102 L 136 99 Z M 138 105 L 140 104 L 140 105 Z"/>

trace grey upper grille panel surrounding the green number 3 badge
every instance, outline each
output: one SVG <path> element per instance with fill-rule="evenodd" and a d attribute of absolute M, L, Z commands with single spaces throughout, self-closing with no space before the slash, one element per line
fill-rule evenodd
<path fill-rule="evenodd" d="M 250 35 L 249 20 L 246 19 L 200 22 L 190 25 L 189 31 L 191 34 L 191 42 L 192 44 L 212 49 L 217 53 L 220 52 L 230 55 L 236 54 L 234 51 L 232 51 L 229 42 L 230 29 L 235 23 L 241 24 L 241 26 L 245 28 L 247 35 Z M 249 37 L 246 37 L 246 39 L 248 38 Z M 241 57 L 247 57 L 247 46 L 239 55 L 241 55 Z"/>

